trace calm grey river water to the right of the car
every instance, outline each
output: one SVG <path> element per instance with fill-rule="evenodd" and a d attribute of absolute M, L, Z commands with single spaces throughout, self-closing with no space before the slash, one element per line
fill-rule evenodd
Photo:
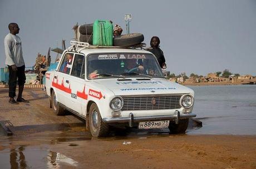
<path fill-rule="evenodd" d="M 188 134 L 256 135 L 256 85 L 188 86 L 203 127 Z"/>

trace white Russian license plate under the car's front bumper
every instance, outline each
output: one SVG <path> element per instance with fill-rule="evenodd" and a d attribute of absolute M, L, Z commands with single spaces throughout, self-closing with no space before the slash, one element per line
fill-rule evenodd
<path fill-rule="evenodd" d="M 139 129 L 159 129 L 169 126 L 170 120 L 139 122 Z"/>

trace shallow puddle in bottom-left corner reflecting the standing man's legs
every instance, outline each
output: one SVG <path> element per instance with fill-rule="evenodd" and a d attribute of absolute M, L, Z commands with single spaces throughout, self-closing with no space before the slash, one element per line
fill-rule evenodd
<path fill-rule="evenodd" d="M 31 146 L 18 146 L 11 150 L 2 151 L 0 153 L 0 163 L 0 168 L 11 169 L 78 167 L 77 161 L 59 152 L 49 151 L 47 148 Z"/>

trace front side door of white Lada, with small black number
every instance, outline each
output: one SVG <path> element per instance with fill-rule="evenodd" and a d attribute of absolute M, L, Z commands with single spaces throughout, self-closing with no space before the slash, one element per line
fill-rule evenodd
<path fill-rule="evenodd" d="M 72 70 L 67 79 L 71 85 L 71 109 L 83 115 L 81 106 L 85 105 L 87 94 L 85 93 L 85 56 L 82 54 L 75 54 L 73 60 Z"/>

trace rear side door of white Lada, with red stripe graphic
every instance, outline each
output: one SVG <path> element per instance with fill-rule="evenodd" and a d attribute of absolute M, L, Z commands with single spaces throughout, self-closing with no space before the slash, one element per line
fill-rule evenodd
<path fill-rule="evenodd" d="M 58 66 L 58 71 L 54 74 L 52 86 L 55 88 L 57 93 L 58 102 L 69 107 L 68 104 L 71 95 L 71 86 L 68 81 L 68 76 L 70 76 L 72 64 L 73 64 L 73 53 L 65 53 L 63 55 L 61 64 Z"/>

